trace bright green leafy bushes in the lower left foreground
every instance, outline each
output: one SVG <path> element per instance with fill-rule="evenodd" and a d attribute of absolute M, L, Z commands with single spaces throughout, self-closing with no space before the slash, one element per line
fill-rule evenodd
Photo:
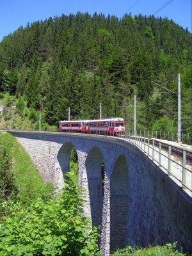
<path fill-rule="evenodd" d="M 82 217 L 81 191 L 68 176 L 58 200 L 41 198 L 26 207 L 10 207 L 10 216 L 0 224 L 2 255 L 100 255 L 97 230 Z"/>

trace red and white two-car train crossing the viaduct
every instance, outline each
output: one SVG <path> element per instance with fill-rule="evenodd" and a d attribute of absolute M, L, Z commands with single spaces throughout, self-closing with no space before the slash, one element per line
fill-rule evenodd
<path fill-rule="evenodd" d="M 60 132 L 88 132 L 117 134 L 125 132 L 124 118 L 104 118 L 95 120 L 60 121 Z"/>

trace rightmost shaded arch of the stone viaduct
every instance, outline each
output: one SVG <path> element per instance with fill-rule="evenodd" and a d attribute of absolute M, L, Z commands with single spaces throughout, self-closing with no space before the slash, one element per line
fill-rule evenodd
<path fill-rule="evenodd" d="M 110 250 L 126 246 L 129 179 L 124 155 L 116 160 L 110 180 Z"/>

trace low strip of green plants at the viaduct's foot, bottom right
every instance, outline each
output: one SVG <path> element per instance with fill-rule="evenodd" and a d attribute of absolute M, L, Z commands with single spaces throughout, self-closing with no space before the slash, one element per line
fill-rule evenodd
<path fill-rule="evenodd" d="M 177 243 L 165 244 L 164 246 L 153 246 L 149 248 L 143 248 L 133 250 L 131 246 L 127 246 L 124 249 L 118 249 L 112 253 L 113 256 L 185 256 L 186 254 L 177 250 Z"/>

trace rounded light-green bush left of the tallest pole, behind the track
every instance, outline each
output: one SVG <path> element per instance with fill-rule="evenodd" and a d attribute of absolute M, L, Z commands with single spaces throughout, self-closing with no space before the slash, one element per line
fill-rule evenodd
<path fill-rule="evenodd" d="M 154 131 L 166 131 L 166 132 L 175 132 L 177 131 L 173 120 L 168 118 L 168 116 L 163 116 L 157 120 L 153 125 Z"/>

